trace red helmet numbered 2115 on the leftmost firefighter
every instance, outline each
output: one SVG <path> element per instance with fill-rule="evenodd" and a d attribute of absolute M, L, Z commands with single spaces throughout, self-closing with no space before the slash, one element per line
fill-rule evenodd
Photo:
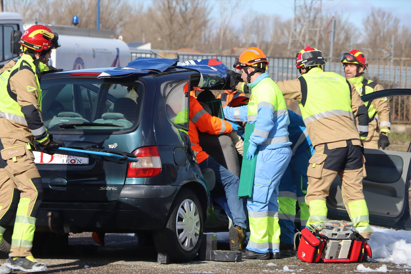
<path fill-rule="evenodd" d="M 44 25 L 33 25 L 21 37 L 20 44 L 34 51 L 58 48 L 58 35 Z"/>

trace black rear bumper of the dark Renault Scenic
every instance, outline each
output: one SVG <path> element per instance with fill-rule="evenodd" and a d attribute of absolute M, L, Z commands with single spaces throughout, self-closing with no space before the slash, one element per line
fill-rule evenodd
<path fill-rule="evenodd" d="M 37 227 L 51 230 L 106 232 L 164 228 L 178 186 L 125 185 L 120 198 L 102 203 L 45 201 Z M 52 214 L 49 214 L 52 212 Z M 65 228 L 65 230 L 64 230 Z"/>

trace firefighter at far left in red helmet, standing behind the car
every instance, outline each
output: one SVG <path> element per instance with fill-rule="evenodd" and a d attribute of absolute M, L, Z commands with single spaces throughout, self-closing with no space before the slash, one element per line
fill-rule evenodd
<path fill-rule="evenodd" d="M 40 80 L 49 70 L 50 52 L 57 48 L 58 35 L 44 25 L 33 25 L 21 37 L 23 54 L 13 67 L 0 75 L 0 242 L 15 217 L 9 259 L 11 269 L 46 271 L 32 256 L 35 222 L 42 203 L 42 180 L 34 163 L 35 143 L 47 151 L 64 145 L 53 139 L 41 116 Z"/>

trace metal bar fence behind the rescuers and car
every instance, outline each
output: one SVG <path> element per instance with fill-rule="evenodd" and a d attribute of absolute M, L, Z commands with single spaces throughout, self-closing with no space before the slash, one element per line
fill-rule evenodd
<path fill-rule="evenodd" d="M 130 49 L 132 60 L 139 56 L 156 57 L 159 50 L 137 50 Z M 162 51 L 164 52 L 164 51 Z M 165 51 L 167 52 L 167 51 Z M 174 51 L 169 51 L 174 52 Z M 229 69 L 233 69 L 233 63 L 238 56 L 234 55 L 212 55 L 212 54 L 191 54 L 176 52 L 180 62 L 197 59 L 218 58 Z M 268 70 L 271 78 L 277 81 L 295 79 L 300 76 L 296 69 L 294 57 L 268 57 Z M 368 60 L 368 69 L 365 71 L 365 78 L 369 78 L 388 88 L 411 88 L 411 60 L 410 58 L 397 58 L 394 62 L 391 59 L 372 58 Z M 398 64 L 398 65 L 397 65 Z M 410 66 L 409 66 L 410 65 Z M 328 62 L 326 71 L 333 71 L 344 75 L 344 68 L 340 62 Z M 394 123 L 411 124 L 411 99 L 408 96 L 396 96 L 389 98 L 391 108 L 391 119 Z M 287 107 L 300 113 L 298 103 L 295 100 L 286 100 Z"/>

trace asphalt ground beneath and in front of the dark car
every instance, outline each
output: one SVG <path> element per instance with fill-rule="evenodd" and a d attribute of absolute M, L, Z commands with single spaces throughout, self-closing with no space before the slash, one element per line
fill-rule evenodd
<path fill-rule="evenodd" d="M 161 265 L 157 263 L 157 253 L 153 246 L 141 247 L 138 238 L 132 234 L 107 234 L 106 245 L 99 246 L 91 238 L 91 233 L 70 234 L 69 248 L 62 255 L 37 255 L 39 262 L 48 265 L 44 273 L 76 274 L 128 274 L 128 273 L 228 273 L 228 274 L 267 274 L 267 273 L 359 273 L 358 263 L 349 264 L 309 264 L 296 257 L 277 260 L 242 260 L 241 262 L 214 262 L 194 260 L 187 263 Z M 49 243 L 50 244 L 50 243 Z M 229 249 L 228 242 L 219 242 L 218 249 Z M 6 254 L 1 254 L 0 263 L 5 262 Z M 393 273 L 409 273 L 411 269 L 399 268 L 392 263 L 377 261 L 364 262 L 365 267 L 377 269 L 387 265 Z M 24 273 L 15 271 L 13 273 Z"/>

